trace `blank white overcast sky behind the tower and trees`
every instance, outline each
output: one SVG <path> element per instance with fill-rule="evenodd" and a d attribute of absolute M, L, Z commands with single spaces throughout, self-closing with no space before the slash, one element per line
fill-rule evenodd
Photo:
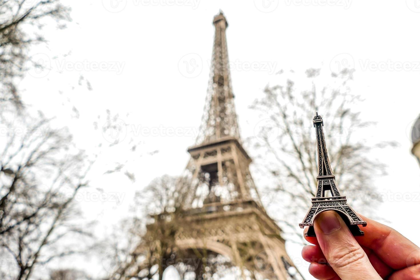
<path fill-rule="evenodd" d="M 353 93 L 365 99 L 358 109 L 365 120 L 378 122 L 368 137 L 399 143 L 375 155 L 389 168 L 389 175 L 371 182 L 381 193 L 389 194 L 378 215 L 420 244 L 418 223 L 413 222 L 420 209 L 420 169 L 410 153 L 407 132 L 420 113 L 417 0 L 65 3 L 73 9 L 73 22 L 61 31 L 47 27 L 48 46 L 34 50 L 36 58 L 46 60 L 51 70 L 28 75 L 21 86 L 26 89 L 25 101 L 48 116 L 57 116 L 55 122 L 68 126 L 80 147 L 89 149 L 95 144 L 92 123 L 106 109 L 119 113 L 133 128 L 124 141 L 127 146 L 130 139 L 139 143 L 136 153 L 121 154 L 125 151 L 121 149 L 105 153 L 101 160 L 105 165 L 126 158 L 136 182 L 112 175 L 92 180 L 95 187 L 122 195 L 122 203 L 82 201 L 86 217 L 97 219 L 99 227 L 126 217 L 134 191 L 153 178 L 164 173 L 177 175 L 184 169 L 186 147 L 194 143 L 204 106 L 212 20 L 222 9 L 229 23 L 227 42 L 242 136 L 252 136 L 259 120 L 248 106 L 267 84 L 276 84 L 276 72 L 354 67 Z M 102 69 L 95 68 L 98 64 Z M 89 80 L 92 90 L 86 84 L 77 85 L 80 75 Z M 101 118 L 98 125 L 104 124 Z M 312 126 L 310 120 L 308 126 Z M 172 136 L 170 129 L 178 129 L 181 135 Z M 159 153 L 147 154 L 154 150 Z M 407 201 L 396 201 L 396 193 L 405 194 Z M 300 260 L 301 248 L 288 244 L 287 249 L 311 279 L 308 264 Z M 94 273 L 100 270 L 100 265 L 92 268 Z"/>

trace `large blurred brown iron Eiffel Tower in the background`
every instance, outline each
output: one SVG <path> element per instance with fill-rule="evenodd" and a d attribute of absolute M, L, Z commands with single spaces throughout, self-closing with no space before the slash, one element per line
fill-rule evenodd
<path fill-rule="evenodd" d="M 153 247 L 152 236 L 157 232 L 168 236 L 163 233 L 170 232 L 175 244 L 162 250 L 160 259 L 172 258 L 172 265 L 176 260 L 186 266 L 195 264 L 195 279 L 208 279 L 209 267 L 225 266 L 226 259 L 239 267 L 240 279 L 303 279 L 286 253 L 281 229 L 265 212 L 249 172 L 251 158 L 241 144 L 228 68 L 228 23 L 221 11 L 213 24 L 205 113 L 201 134 L 188 149 L 187 180 L 178 186 L 178 190 L 184 187 L 177 198 L 181 209 L 176 218 L 171 213 L 154 216 L 154 222 L 147 226 L 144 240 L 150 242 L 145 246 L 150 251 L 162 250 L 162 240 L 168 238 L 161 237 L 159 246 Z M 166 267 L 168 263 L 161 261 L 159 269 Z M 160 272 L 160 278 L 162 275 Z"/>

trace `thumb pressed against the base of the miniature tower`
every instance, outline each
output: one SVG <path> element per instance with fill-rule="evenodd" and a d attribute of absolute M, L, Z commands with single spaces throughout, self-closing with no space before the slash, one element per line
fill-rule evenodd
<path fill-rule="evenodd" d="M 320 213 L 314 229 L 325 258 L 341 279 L 382 279 L 335 211 Z"/>

